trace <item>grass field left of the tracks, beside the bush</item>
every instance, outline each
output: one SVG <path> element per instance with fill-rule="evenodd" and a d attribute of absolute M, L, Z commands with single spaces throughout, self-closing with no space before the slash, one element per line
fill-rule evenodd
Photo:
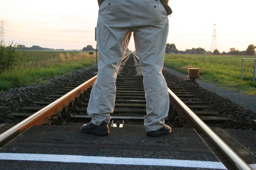
<path fill-rule="evenodd" d="M 26 87 L 95 64 L 95 53 L 25 52 L 21 66 L 0 74 L 0 92 Z M 38 62 L 36 65 L 35 63 Z M 26 67 L 24 67 L 26 64 Z"/>

